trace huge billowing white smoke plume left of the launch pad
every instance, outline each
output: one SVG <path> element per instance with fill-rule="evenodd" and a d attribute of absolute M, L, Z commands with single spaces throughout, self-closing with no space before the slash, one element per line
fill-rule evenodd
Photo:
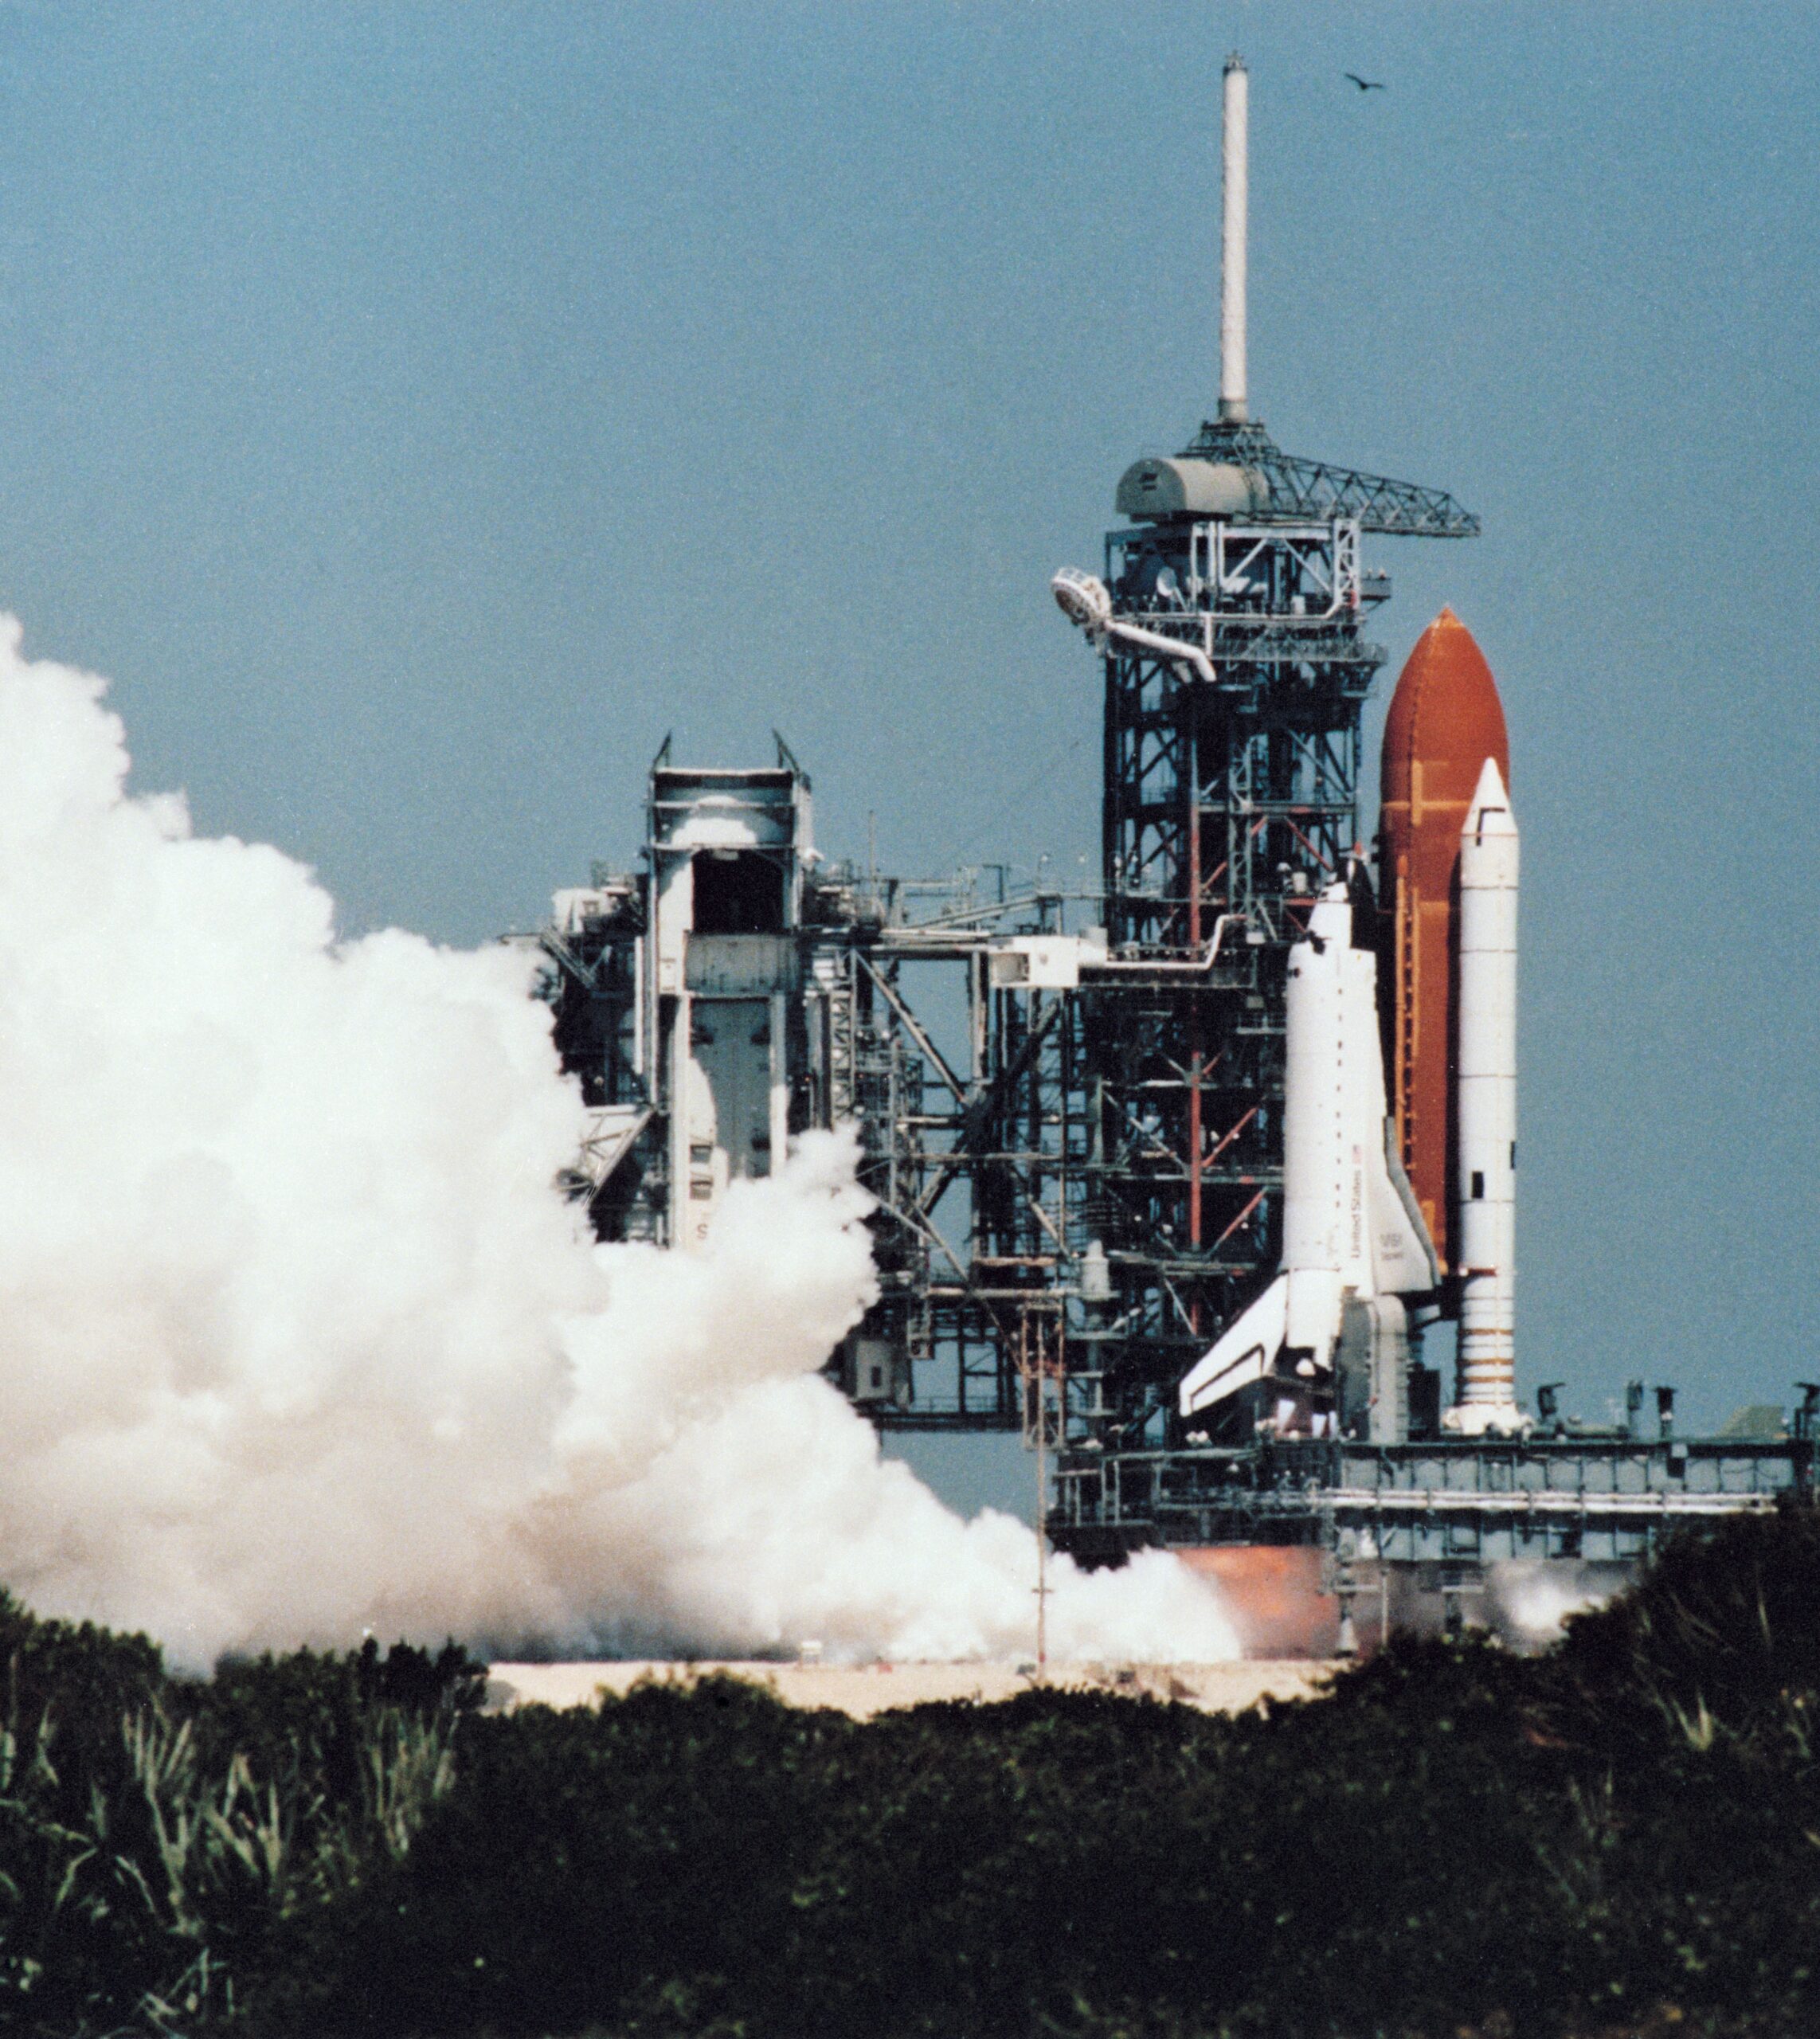
<path fill-rule="evenodd" d="M 1029 1529 L 815 1374 L 872 1295 L 850 1144 L 701 1256 L 577 1242 L 526 958 L 336 942 L 304 867 L 126 793 L 102 691 L 0 620 L 0 1582 L 190 1666 L 1027 1652 Z M 1052 1578 L 1062 1656 L 1237 1654 L 1170 1558 Z"/>

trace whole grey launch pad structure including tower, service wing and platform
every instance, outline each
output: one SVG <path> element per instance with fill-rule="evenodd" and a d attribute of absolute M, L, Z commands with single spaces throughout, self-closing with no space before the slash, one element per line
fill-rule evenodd
<path fill-rule="evenodd" d="M 1176 1413 L 1280 1258 L 1288 952 L 1361 858 L 1366 622 L 1390 593 L 1363 538 L 1480 528 L 1249 418 L 1245 106 L 1233 59 L 1219 418 L 1125 471 L 1103 579 L 1056 581 L 1099 655 L 1101 883 L 829 862 L 783 740 L 756 771 L 664 744 L 642 871 L 558 893 L 536 938 L 591 1109 L 571 1187 L 603 1238 L 693 1250 L 732 1181 L 854 1126 L 880 1299 L 829 1372 L 882 1427 L 1054 1446 L 1050 1531 L 1084 1562 L 1317 1546 L 1341 1597 L 1363 1564 L 1441 1566 L 1449 1590 L 1490 1564 L 1630 1564 L 1675 1521 L 1806 1491 L 1816 1399 L 1753 1446 L 1441 1442 L 1414 1362 L 1372 1442 L 1270 1435 L 1245 1395 L 1205 1433 Z"/>

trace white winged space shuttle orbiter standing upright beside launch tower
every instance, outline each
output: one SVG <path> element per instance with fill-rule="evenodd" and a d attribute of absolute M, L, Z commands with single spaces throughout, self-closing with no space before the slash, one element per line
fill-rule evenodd
<path fill-rule="evenodd" d="M 1182 1378 L 1184 1417 L 1278 1378 L 1292 1405 L 1363 1403 L 1372 1437 L 1402 1433 L 1400 1299 L 1431 1293 L 1439 1266 L 1386 1115 L 1370 918 L 1363 879 L 1335 881 L 1290 950 L 1282 1266 Z"/>

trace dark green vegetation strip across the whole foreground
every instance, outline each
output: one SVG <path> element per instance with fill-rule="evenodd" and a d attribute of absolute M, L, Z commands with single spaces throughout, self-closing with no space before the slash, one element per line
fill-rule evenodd
<path fill-rule="evenodd" d="M 1545 1658 L 1400 1645 L 1209 1719 L 870 1725 L 457 1652 L 167 1678 L 0 1609 L 6 2031 L 1820 2031 L 1820 1517 L 1671 1546 Z"/>

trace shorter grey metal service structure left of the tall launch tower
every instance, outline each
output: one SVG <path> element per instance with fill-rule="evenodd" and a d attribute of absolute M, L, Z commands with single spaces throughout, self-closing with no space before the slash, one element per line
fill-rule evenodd
<path fill-rule="evenodd" d="M 758 771 L 664 746 L 644 869 L 597 867 L 536 936 L 589 1105 L 569 1187 L 597 1234 L 689 1250 L 791 1134 L 854 1126 L 882 1297 L 836 1370 L 882 1423 L 1019 1427 L 1025 1319 L 1060 1325 L 1080 1230 L 1058 1020 L 1107 962 L 1103 936 L 1066 932 L 1070 905 L 829 862 L 783 742 Z M 958 1040 L 938 1044 L 923 991 L 962 1015 Z"/>

